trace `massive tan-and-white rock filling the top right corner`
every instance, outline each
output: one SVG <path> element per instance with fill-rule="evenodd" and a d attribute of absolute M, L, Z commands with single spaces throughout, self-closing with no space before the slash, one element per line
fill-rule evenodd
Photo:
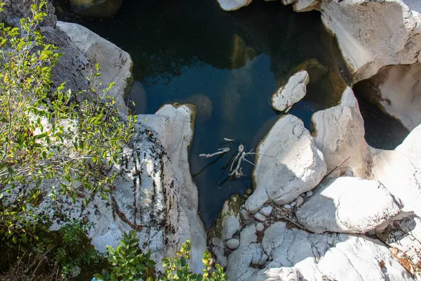
<path fill-rule="evenodd" d="M 421 15 L 401 0 L 323 0 L 321 20 L 338 39 L 354 82 L 385 65 L 420 61 Z"/>

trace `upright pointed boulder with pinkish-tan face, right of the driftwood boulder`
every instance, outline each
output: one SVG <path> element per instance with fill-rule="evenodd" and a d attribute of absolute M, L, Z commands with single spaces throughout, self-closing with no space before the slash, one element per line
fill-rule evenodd
<path fill-rule="evenodd" d="M 323 152 L 328 171 L 343 163 L 335 173 L 352 171 L 354 176 L 370 175 L 370 150 L 364 138 L 364 120 L 351 88 L 345 89 L 340 105 L 314 113 L 317 148 Z"/>

